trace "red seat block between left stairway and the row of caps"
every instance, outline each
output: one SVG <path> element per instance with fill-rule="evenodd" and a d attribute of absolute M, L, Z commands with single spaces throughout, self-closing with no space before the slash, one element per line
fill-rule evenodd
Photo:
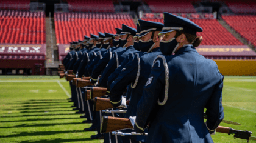
<path fill-rule="evenodd" d="M 54 23 L 57 44 L 82 40 L 91 33 L 116 33 L 115 28 L 121 28 L 122 24 L 135 28 L 132 16 L 113 13 L 55 13 Z"/>

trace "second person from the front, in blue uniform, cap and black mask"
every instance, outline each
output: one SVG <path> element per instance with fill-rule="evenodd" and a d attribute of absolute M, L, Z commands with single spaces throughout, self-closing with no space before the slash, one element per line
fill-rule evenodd
<path fill-rule="evenodd" d="M 140 41 L 138 42 L 137 52 L 133 58 L 123 67 L 123 70 L 118 75 L 118 78 L 112 82 L 110 87 L 110 102 L 114 107 L 125 107 L 126 98 L 122 97 L 122 93 L 130 84 L 132 90 L 130 91 L 130 103 L 127 108 L 125 118 L 135 116 L 137 111 L 137 104 L 143 93 L 143 87 L 148 80 L 154 59 L 161 54 L 159 44 L 160 38 L 158 33 L 163 28 L 160 22 L 151 22 L 138 20 L 140 24 Z M 132 83 L 132 84 L 131 84 Z M 108 83 L 109 84 L 109 83 Z M 124 130 L 124 132 L 134 132 L 134 130 Z M 146 136 L 130 136 L 132 142 L 145 142 Z"/>

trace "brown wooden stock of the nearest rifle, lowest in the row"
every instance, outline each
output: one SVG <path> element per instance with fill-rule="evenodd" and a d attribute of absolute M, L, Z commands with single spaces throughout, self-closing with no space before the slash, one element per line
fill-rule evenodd
<path fill-rule="evenodd" d="M 132 123 L 127 118 L 111 116 L 102 117 L 101 133 L 108 133 L 110 131 L 122 130 L 126 128 L 133 128 Z"/>

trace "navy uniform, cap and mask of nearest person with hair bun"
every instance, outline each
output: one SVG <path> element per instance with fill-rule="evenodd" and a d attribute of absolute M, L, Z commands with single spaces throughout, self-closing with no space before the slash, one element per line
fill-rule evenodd
<path fill-rule="evenodd" d="M 161 33 L 178 29 L 191 35 L 202 32 L 186 18 L 170 13 L 164 13 L 164 18 Z M 165 43 L 169 44 L 160 42 L 162 53 L 175 47 Z M 154 61 L 137 105 L 135 130 L 141 133 L 149 123 L 146 142 L 213 142 L 209 130 L 215 130 L 224 118 L 222 74 L 214 61 L 199 55 L 191 44 L 183 45 L 175 55 L 167 55 L 159 55 Z"/>

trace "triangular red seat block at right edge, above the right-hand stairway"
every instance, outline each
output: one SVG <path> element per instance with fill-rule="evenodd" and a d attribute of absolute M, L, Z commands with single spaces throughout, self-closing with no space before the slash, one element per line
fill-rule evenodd
<path fill-rule="evenodd" d="M 243 38 L 250 41 L 256 47 L 256 16 L 246 15 L 222 15 L 227 22 Z"/>

